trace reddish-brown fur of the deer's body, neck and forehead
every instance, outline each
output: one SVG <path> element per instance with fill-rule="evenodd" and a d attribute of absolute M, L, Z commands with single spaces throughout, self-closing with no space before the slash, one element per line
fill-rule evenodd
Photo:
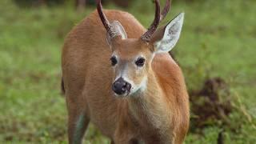
<path fill-rule="evenodd" d="M 146 31 L 130 14 L 104 10 L 110 20 L 118 20 L 128 38 L 114 43 L 115 52 L 129 61 L 142 53 L 150 59 L 152 47 L 138 39 Z M 74 142 L 75 126 L 85 115 L 113 143 L 182 143 L 189 126 L 189 103 L 182 71 L 169 54 L 156 54 L 142 75 L 147 75 L 146 91 L 138 97 L 116 98 L 111 90 L 112 51 L 106 30 L 94 11 L 68 34 L 62 50 L 63 90 L 69 114 L 69 141 Z M 139 77 L 130 76 L 134 80 Z"/>

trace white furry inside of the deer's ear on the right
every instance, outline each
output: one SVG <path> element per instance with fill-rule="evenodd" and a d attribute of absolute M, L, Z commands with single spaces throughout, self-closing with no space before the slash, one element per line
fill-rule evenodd
<path fill-rule="evenodd" d="M 166 26 L 162 39 L 154 43 L 157 53 L 168 52 L 174 48 L 182 31 L 183 19 L 184 13 L 178 14 L 178 16 Z"/>

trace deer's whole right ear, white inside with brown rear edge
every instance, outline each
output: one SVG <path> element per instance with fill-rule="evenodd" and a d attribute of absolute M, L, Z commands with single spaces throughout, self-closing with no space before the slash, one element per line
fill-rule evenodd
<path fill-rule="evenodd" d="M 178 14 L 166 26 L 154 32 L 150 42 L 156 53 L 168 52 L 174 48 L 182 31 L 183 19 L 184 13 Z"/>

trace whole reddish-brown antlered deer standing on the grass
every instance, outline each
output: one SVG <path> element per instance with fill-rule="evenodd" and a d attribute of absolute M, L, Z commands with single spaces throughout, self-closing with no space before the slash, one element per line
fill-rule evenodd
<path fill-rule="evenodd" d="M 68 142 L 82 143 L 89 123 L 111 144 L 180 144 L 190 122 L 181 68 L 170 56 L 184 13 L 158 25 L 170 10 L 154 0 L 146 30 L 132 14 L 97 9 L 67 34 L 62 47 L 62 90 Z"/>

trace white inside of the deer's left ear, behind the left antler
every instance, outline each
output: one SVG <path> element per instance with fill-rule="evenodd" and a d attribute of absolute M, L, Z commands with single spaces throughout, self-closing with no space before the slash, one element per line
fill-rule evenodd
<path fill-rule="evenodd" d="M 108 33 L 106 34 L 106 39 L 109 44 L 111 44 L 111 39 L 118 35 L 120 35 L 122 39 L 127 38 L 126 30 L 122 27 L 120 22 L 118 21 L 111 22 L 110 29 L 111 31 L 113 31 L 113 33 L 111 35 Z"/>

